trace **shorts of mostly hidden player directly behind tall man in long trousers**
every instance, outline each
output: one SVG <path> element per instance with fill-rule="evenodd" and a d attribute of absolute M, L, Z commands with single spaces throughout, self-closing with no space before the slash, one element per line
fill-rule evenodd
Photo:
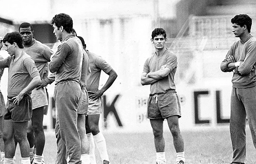
<path fill-rule="evenodd" d="M 87 115 L 89 96 L 86 89 L 82 89 L 81 98 L 78 102 L 77 114 Z"/>

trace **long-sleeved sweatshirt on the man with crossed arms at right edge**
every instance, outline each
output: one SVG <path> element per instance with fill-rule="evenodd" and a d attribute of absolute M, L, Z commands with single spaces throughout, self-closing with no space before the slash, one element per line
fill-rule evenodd
<path fill-rule="evenodd" d="M 233 56 L 236 62 L 243 62 L 238 67 L 238 73 L 233 73 L 233 88 L 250 88 L 256 86 L 256 38 L 250 36 L 246 41 L 238 40 L 234 42 L 226 54 L 226 58 L 221 63 L 223 72 L 231 72 L 228 68 L 227 57 Z"/>

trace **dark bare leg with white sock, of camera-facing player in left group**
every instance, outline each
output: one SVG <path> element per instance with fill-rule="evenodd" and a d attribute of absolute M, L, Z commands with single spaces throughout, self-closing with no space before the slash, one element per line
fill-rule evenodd
<path fill-rule="evenodd" d="M 44 106 L 35 108 L 32 115 L 32 128 L 35 135 L 36 155 L 34 163 L 42 162 L 42 152 L 45 148 L 45 131 L 42 125 L 44 119 Z"/>

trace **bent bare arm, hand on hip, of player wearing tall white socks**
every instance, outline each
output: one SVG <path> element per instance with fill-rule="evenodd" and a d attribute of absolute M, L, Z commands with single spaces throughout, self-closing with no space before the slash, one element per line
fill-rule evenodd
<path fill-rule="evenodd" d="M 101 90 L 99 90 L 99 91 L 97 91 L 96 93 L 92 94 L 92 95 L 90 96 L 90 98 L 92 98 L 92 99 L 97 99 L 97 98 L 99 98 L 100 96 L 103 95 L 103 93 L 104 93 L 106 90 L 108 90 L 108 89 L 112 86 L 112 84 L 114 83 L 114 81 L 115 81 L 116 78 L 117 78 L 116 71 L 115 71 L 114 69 L 112 69 L 112 70 L 108 73 L 108 75 L 109 75 L 109 78 L 108 78 L 108 80 L 106 80 L 105 85 L 101 88 Z"/>

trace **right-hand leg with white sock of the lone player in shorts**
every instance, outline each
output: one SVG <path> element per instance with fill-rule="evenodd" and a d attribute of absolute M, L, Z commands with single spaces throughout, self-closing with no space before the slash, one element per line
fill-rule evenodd
<path fill-rule="evenodd" d="M 170 116 L 167 118 L 168 126 L 170 129 L 170 132 L 173 135 L 173 140 L 174 140 L 174 147 L 176 150 L 176 162 L 184 162 L 185 157 L 184 157 L 184 141 L 181 136 L 180 132 L 180 127 L 179 127 L 179 117 L 177 115 L 175 116 Z"/>

